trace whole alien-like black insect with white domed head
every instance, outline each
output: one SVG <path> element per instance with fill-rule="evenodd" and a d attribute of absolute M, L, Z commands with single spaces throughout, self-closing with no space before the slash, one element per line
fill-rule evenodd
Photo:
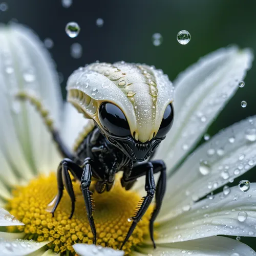
<path fill-rule="evenodd" d="M 150 236 L 159 213 L 166 187 L 166 167 L 162 160 L 150 160 L 156 147 L 165 138 L 174 120 L 173 86 L 162 71 L 146 65 L 116 62 L 92 63 L 79 68 L 69 77 L 67 100 L 91 119 L 78 138 L 74 152 L 67 150 L 58 132 L 48 120 L 48 113 L 33 97 L 29 99 L 44 117 L 53 139 L 65 157 L 57 168 L 58 194 L 50 203 L 54 214 L 65 188 L 71 198 L 74 213 L 75 195 L 72 175 L 80 181 L 88 220 L 96 243 L 93 200 L 90 184 L 97 182 L 97 193 L 110 191 L 115 174 L 123 172 L 121 185 L 129 190 L 137 178 L 145 176 L 146 196 L 139 202 L 122 246 L 130 238 L 154 196 L 156 204 L 150 220 Z M 145 161 L 147 160 L 147 161 Z M 142 162 L 142 163 L 141 163 Z M 160 176 L 155 185 L 154 174 Z M 121 248 L 122 248 L 121 246 Z"/>

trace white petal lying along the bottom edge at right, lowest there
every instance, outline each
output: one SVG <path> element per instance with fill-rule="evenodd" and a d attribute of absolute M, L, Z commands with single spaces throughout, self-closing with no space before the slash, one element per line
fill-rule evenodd
<path fill-rule="evenodd" d="M 153 250 L 150 247 L 139 248 L 140 252 L 152 256 L 252 256 L 255 251 L 248 245 L 225 237 L 209 237 L 193 241 L 163 244 Z M 164 254 L 165 253 L 165 254 Z M 132 253 L 137 256 L 140 254 Z"/>

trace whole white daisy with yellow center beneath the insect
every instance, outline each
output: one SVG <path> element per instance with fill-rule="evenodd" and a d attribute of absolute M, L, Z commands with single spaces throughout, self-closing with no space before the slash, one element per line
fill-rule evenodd
<path fill-rule="evenodd" d="M 72 219 L 66 191 L 54 217 L 46 211 L 56 195 L 55 173 L 61 157 L 38 112 L 29 102 L 17 100 L 16 92 L 29 91 L 42 99 L 69 147 L 88 121 L 70 105 L 63 107 L 54 65 L 38 38 L 22 26 L 2 26 L 1 255 L 255 255 L 249 246 L 219 235 L 256 236 L 256 184 L 249 189 L 248 183 L 225 186 L 222 193 L 210 193 L 255 165 L 256 117 L 233 124 L 188 156 L 237 91 L 251 62 L 249 50 L 220 49 L 175 80 L 174 125 L 155 155 L 166 162 L 168 176 L 155 223 L 157 248 L 153 249 L 148 236 L 151 207 L 120 251 L 130 227 L 127 219 L 145 193 L 144 179 L 131 191 L 116 182 L 109 193 L 94 194 L 97 246 L 92 245 L 78 183 L 73 182 L 76 206 Z M 44 112 L 41 104 L 37 108 Z"/>

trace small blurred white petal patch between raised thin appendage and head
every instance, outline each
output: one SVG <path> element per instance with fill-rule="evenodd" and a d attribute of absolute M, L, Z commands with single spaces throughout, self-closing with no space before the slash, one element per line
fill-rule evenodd
<path fill-rule="evenodd" d="M 90 119 L 84 118 L 82 114 L 78 113 L 71 103 L 65 103 L 64 113 L 65 119 L 62 125 L 61 137 L 70 150 L 72 150 L 72 146 L 79 133 L 83 131 L 84 126 L 89 124 Z"/>

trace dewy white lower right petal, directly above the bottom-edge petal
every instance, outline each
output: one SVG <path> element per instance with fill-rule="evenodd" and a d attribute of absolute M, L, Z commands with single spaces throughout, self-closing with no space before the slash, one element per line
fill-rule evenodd
<path fill-rule="evenodd" d="M 191 206 L 176 218 L 157 227 L 156 243 L 180 242 L 219 234 L 256 237 L 256 183 L 247 192 L 238 186 Z"/>

